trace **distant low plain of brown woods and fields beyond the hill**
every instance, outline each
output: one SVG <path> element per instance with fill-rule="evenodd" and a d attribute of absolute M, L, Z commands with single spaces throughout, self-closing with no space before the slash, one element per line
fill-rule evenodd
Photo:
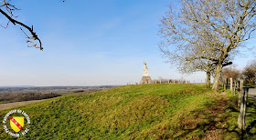
<path fill-rule="evenodd" d="M 42 100 L 61 95 L 91 94 L 114 85 L 102 86 L 41 86 L 41 87 L 0 87 L 0 104 Z"/>

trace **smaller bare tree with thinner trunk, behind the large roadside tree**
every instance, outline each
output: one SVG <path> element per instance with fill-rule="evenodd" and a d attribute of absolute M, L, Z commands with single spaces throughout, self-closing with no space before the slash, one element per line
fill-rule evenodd
<path fill-rule="evenodd" d="M 165 21 L 163 20 L 162 22 Z M 165 34 L 165 28 L 162 28 L 160 32 Z M 177 65 L 178 70 L 182 73 L 206 72 L 207 87 L 210 87 L 210 75 L 214 75 L 213 73 L 217 67 L 215 60 L 219 57 L 219 53 L 214 50 L 218 48 L 214 48 L 215 46 L 211 45 L 212 42 L 206 40 L 204 36 L 197 35 L 194 39 L 194 42 L 197 44 L 190 44 L 185 41 L 181 45 L 178 45 L 173 52 L 170 52 L 168 49 L 170 42 L 165 42 L 166 40 L 164 40 L 164 43 L 162 42 L 159 45 L 160 50 L 164 53 L 165 57 L 168 58 L 169 61 L 167 62 L 172 65 Z M 225 65 L 231 64 L 231 62 L 229 62 L 230 59 L 231 57 L 225 59 Z"/>

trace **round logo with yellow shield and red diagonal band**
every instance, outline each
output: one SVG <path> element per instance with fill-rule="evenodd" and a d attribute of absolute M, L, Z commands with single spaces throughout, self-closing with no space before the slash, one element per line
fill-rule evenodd
<path fill-rule="evenodd" d="M 20 109 L 11 110 L 5 115 L 3 124 L 8 135 L 19 137 L 20 135 L 26 135 L 29 131 L 30 118 Z"/>

